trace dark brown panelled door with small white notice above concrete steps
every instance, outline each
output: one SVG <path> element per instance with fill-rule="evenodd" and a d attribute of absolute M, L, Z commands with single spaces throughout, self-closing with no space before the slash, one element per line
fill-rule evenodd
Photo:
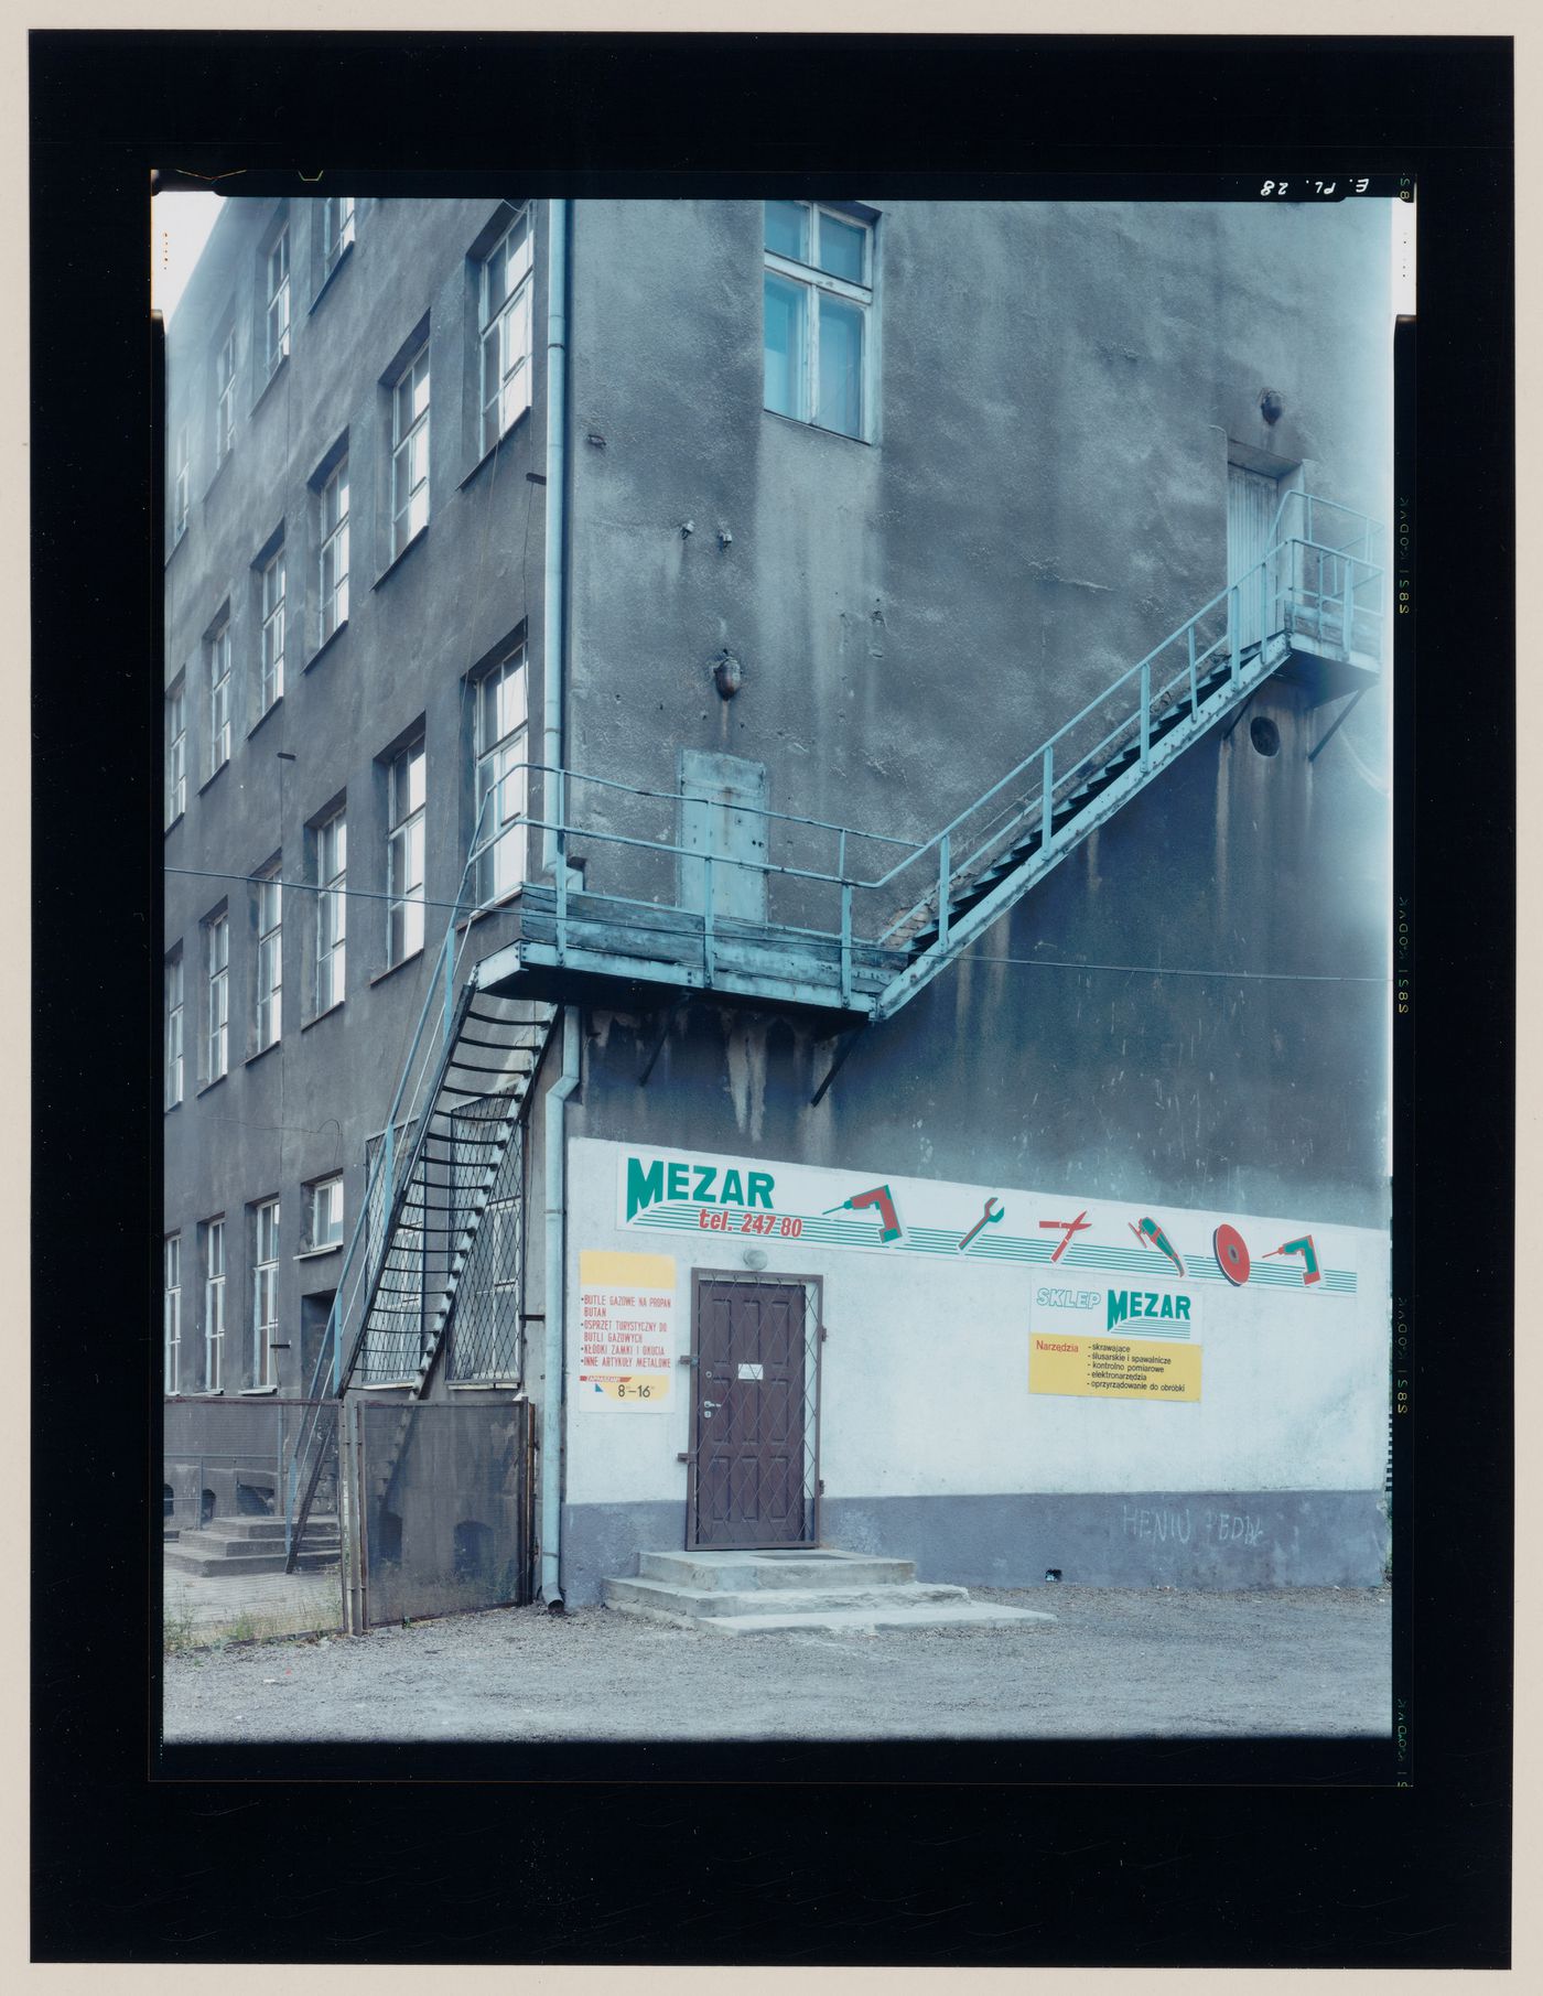
<path fill-rule="evenodd" d="M 810 1337 L 802 1281 L 697 1277 L 693 1545 L 810 1545 Z"/>

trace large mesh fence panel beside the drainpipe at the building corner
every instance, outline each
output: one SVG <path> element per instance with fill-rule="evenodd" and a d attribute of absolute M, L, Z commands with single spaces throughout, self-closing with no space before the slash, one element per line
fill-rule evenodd
<path fill-rule="evenodd" d="M 355 1403 L 359 1627 L 531 1599 L 531 1403 Z"/>

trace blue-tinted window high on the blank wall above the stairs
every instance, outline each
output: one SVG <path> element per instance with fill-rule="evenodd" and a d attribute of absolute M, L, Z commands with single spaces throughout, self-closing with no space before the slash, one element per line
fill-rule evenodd
<path fill-rule="evenodd" d="M 767 407 L 866 437 L 872 224 L 767 202 Z"/>

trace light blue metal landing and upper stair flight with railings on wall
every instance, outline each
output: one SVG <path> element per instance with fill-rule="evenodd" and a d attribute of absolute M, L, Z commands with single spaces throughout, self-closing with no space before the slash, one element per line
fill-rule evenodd
<path fill-rule="evenodd" d="M 1289 493 L 1260 561 L 920 844 L 725 796 L 725 816 L 757 818 L 761 836 L 713 852 L 681 840 L 673 792 L 527 764 L 549 800 L 529 822 L 555 834 L 559 866 L 553 884 L 525 884 L 521 934 L 483 960 L 481 988 L 637 1006 L 665 986 L 832 1028 L 890 1018 L 1266 681 L 1297 683 L 1309 705 L 1375 685 L 1379 535 L 1363 513 Z M 872 848 L 900 856 L 860 876 L 852 862 Z M 757 916 L 731 912 L 747 876 Z"/>

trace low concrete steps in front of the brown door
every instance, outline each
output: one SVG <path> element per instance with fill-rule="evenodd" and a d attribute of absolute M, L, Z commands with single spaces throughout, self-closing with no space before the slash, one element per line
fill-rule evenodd
<path fill-rule="evenodd" d="M 918 1581 L 914 1559 L 834 1551 L 639 1553 L 637 1579 L 605 1581 L 603 1599 L 627 1615 L 713 1635 L 1018 1629 L 1056 1619 L 984 1607 L 966 1587 Z"/>

